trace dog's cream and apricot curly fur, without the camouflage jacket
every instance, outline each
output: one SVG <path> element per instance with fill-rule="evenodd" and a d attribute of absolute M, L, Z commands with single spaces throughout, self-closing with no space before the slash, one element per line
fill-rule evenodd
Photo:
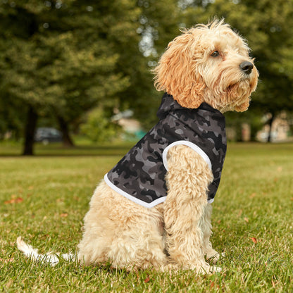
<path fill-rule="evenodd" d="M 213 54 L 213 52 L 216 54 Z M 258 80 L 255 66 L 244 73 L 247 43 L 223 20 L 197 25 L 176 37 L 154 69 L 156 89 L 173 95 L 186 108 L 206 102 L 222 113 L 245 111 Z M 166 201 L 145 208 L 106 185 L 96 188 L 85 216 L 77 257 L 85 265 L 111 261 L 115 268 L 193 269 L 218 271 L 206 258 L 217 261 L 212 247 L 211 204 L 206 194 L 213 174 L 207 163 L 189 148 L 168 151 Z M 20 250 L 39 255 L 21 239 Z"/>

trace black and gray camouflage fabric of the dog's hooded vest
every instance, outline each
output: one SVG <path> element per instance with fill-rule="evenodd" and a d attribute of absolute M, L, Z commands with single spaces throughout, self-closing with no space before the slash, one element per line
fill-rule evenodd
<path fill-rule="evenodd" d="M 147 204 L 166 197 L 163 150 L 173 142 L 187 140 L 199 146 L 211 160 L 214 179 L 207 198 L 213 199 L 227 148 L 225 117 L 205 103 L 197 109 L 182 108 L 168 94 L 163 95 L 157 115 L 158 123 L 107 174 L 108 180 Z"/>

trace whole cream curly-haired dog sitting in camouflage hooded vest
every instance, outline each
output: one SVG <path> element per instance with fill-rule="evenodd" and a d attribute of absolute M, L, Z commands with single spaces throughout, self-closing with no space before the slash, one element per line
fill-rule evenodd
<path fill-rule="evenodd" d="M 247 110 L 258 71 L 244 39 L 213 20 L 170 42 L 154 73 L 165 92 L 160 120 L 96 187 L 77 257 L 128 270 L 218 271 L 206 258 L 220 256 L 210 237 L 226 151 L 223 113 Z M 31 247 L 19 237 L 18 248 Z"/>

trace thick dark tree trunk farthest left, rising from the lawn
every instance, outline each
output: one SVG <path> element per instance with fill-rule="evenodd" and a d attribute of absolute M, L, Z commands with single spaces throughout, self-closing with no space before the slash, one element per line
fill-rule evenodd
<path fill-rule="evenodd" d="M 37 118 L 37 112 L 32 106 L 29 106 L 25 125 L 25 144 L 23 146 L 24 156 L 32 156 L 34 154 L 34 137 L 37 128 Z"/>

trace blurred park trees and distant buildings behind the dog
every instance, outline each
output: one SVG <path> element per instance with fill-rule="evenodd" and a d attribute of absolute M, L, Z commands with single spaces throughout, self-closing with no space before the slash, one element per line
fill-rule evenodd
<path fill-rule="evenodd" d="M 292 0 L 0 0 L 0 145 L 137 140 L 156 123 L 151 69 L 180 28 L 225 18 L 260 73 L 231 141 L 288 142 Z"/>

